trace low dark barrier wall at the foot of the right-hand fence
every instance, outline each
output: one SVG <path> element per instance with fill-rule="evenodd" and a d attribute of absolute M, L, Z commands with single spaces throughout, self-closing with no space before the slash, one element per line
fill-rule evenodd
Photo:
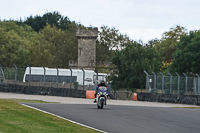
<path fill-rule="evenodd" d="M 137 93 L 138 101 L 165 102 L 200 105 L 199 95 L 176 95 L 176 94 L 159 94 L 159 93 Z"/>

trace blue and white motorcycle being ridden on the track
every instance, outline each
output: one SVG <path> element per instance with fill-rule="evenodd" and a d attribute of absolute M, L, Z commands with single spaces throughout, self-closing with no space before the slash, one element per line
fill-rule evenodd
<path fill-rule="evenodd" d="M 103 106 L 106 105 L 107 96 L 108 96 L 107 88 L 104 86 L 100 86 L 96 97 L 98 109 L 103 109 Z"/>

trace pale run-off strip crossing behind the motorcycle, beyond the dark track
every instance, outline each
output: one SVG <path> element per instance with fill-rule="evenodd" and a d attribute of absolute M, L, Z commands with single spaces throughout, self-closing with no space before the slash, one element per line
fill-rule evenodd
<path fill-rule="evenodd" d="M 26 95 L 16 93 L 0 92 L 1 99 L 26 99 L 26 100 L 42 100 L 46 102 L 58 102 L 63 104 L 94 104 L 94 99 L 59 97 L 47 95 Z M 127 106 L 149 106 L 149 107 L 197 107 L 196 105 L 173 104 L 173 103 L 158 103 L 133 100 L 111 100 L 108 99 L 107 105 L 127 105 Z"/>

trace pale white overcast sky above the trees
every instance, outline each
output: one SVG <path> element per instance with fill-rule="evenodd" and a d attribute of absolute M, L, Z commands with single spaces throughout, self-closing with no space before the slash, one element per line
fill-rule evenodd
<path fill-rule="evenodd" d="M 200 0 L 0 0 L 1 20 L 53 11 L 86 27 L 115 27 L 145 43 L 176 25 L 200 29 Z"/>

